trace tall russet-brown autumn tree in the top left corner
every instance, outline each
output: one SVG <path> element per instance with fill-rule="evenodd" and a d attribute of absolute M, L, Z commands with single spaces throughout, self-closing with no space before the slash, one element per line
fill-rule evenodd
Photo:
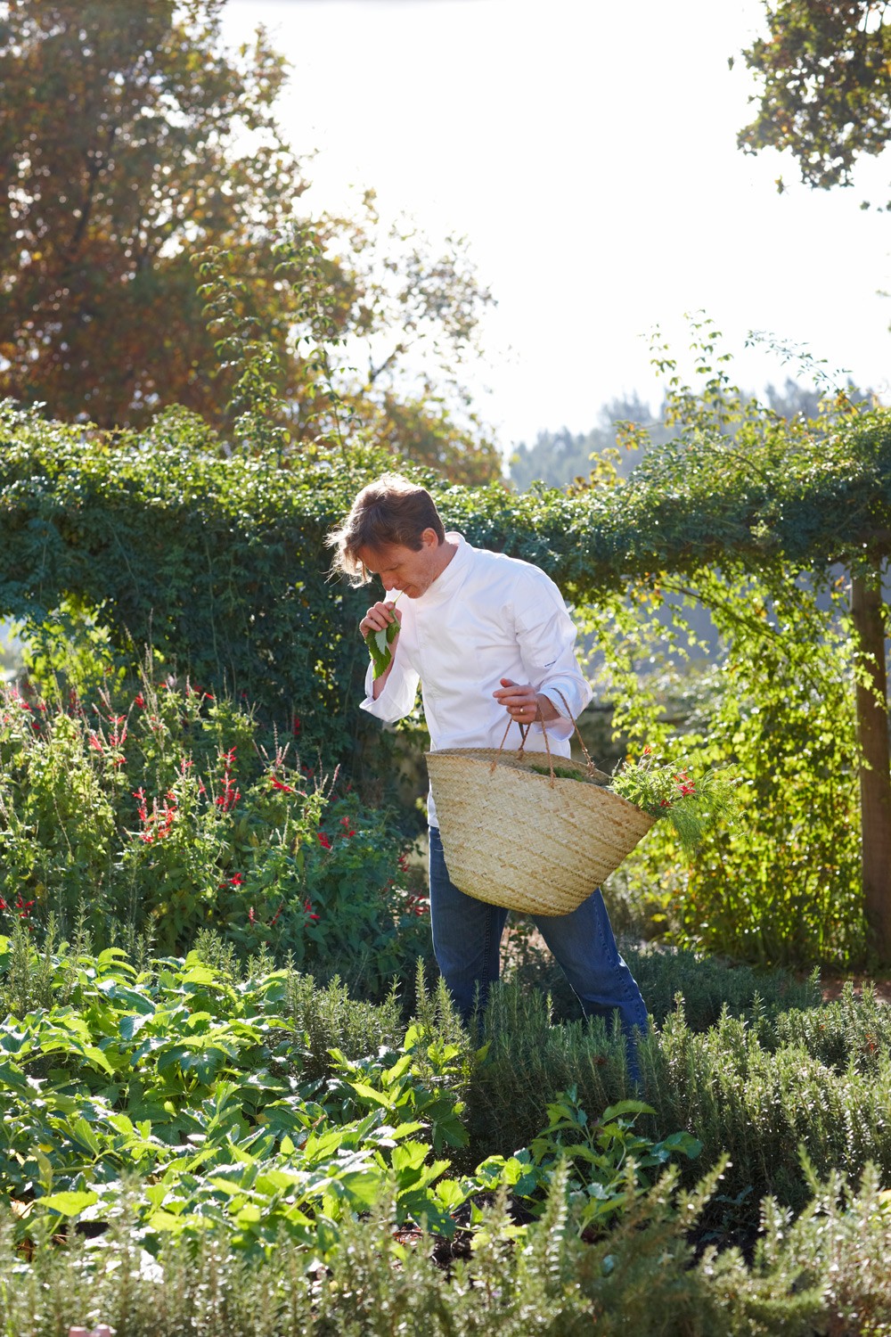
<path fill-rule="evenodd" d="M 214 349 L 190 251 L 239 242 L 260 282 L 266 238 L 306 185 L 271 112 L 283 62 L 260 33 L 228 57 L 220 9 L 8 5 L 3 393 L 100 425 L 168 402 L 211 412 Z"/>

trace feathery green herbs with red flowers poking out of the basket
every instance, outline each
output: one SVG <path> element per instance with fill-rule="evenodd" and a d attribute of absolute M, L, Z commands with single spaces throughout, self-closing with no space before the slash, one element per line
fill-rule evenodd
<path fill-rule="evenodd" d="M 693 856 L 705 832 L 735 808 L 736 781 L 727 770 L 709 769 L 696 779 L 689 767 L 660 762 L 652 747 L 625 758 L 613 771 L 609 787 L 653 817 L 667 817 L 685 854 Z"/>

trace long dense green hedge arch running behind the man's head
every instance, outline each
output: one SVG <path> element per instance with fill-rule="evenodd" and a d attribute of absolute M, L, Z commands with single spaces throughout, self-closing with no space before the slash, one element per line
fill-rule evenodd
<path fill-rule="evenodd" d="M 327 575 L 326 532 L 381 455 L 282 471 L 226 457 L 196 418 L 104 436 L 0 409 L 0 614 L 37 624 L 63 599 L 96 610 L 126 651 L 152 643 L 207 683 L 297 709 L 313 745 L 355 753 L 367 596 Z M 426 479 L 429 485 L 431 480 Z M 882 572 L 891 554 L 891 410 L 816 432 L 753 414 L 729 436 L 701 416 L 621 487 L 574 495 L 434 487 L 473 543 L 536 562 L 576 603 L 697 571 L 851 572 L 863 674 L 863 882 L 891 963 L 891 778 Z"/>

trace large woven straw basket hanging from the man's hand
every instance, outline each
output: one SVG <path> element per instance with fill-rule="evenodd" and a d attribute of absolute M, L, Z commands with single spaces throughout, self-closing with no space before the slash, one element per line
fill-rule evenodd
<path fill-rule="evenodd" d="M 525 741 L 525 739 L 524 739 Z M 468 896 L 526 915 L 568 915 L 613 873 L 655 818 L 596 783 L 536 774 L 544 753 L 446 747 L 426 754 L 449 877 Z"/>

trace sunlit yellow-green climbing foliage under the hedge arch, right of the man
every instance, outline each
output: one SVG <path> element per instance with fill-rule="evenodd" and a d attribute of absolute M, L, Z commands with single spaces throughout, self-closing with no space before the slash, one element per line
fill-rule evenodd
<path fill-rule="evenodd" d="M 700 774 L 729 766 L 740 779 L 736 812 L 695 854 L 656 824 L 610 880 L 624 916 L 636 912 L 647 936 L 759 965 L 863 961 L 858 667 L 844 591 L 832 587 L 823 607 L 797 574 L 713 574 L 699 594 L 720 632 L 705 670 L 691 667 L 704 647 L 680 603 L 669 627 L 664 606 L 643 596 L 590 619 L 616 691 L 614 726 L 633 751 L 652 746 Z M 641 662 L 659 667 L 641 674 Z"/>

